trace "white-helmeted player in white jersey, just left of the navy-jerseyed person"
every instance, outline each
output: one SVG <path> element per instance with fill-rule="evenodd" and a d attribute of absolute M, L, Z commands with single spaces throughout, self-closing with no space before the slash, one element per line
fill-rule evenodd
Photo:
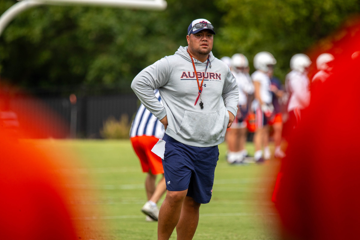
<path fill-rule="evenodd" d="M 269 71 L 273 71 L 275 64 L 276 59 L 273 54 L 269 52 L 262 51 L 254 56 L 254 67 L 256 71 L 251 75 L 251 78 L 255 87 L 255 100 L 252 102 L 252 109 L 255 112 L 256 122 L 256 131 L 253 139 L 255 145 L 254 160 L 256 163 L 263 163 L 265 157 L 270 155 L 269 151 L 266 152 L 267 155 L 264 152 L 263 156 L 262 146 L 264 139 L 269 135 L 268 122 L 274 110 Z"/>

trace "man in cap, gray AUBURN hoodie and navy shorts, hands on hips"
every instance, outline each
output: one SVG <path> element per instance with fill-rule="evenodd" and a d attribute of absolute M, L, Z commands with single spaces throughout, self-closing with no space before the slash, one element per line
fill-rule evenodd
<path fill-rule="evenodd" d="M 192 239 L 199 207 L 208 203 L 218 144 L 237 113 L 238 86 L 229 67 L 211 52 L 214 27 L 196 19 L 180 46 L 141 71 L 131 88 L 165 127 L 163 167 L 167 193 L 158 218 L 158 240 Z M 154 95 L 159 89 L 163 105 Z"/>

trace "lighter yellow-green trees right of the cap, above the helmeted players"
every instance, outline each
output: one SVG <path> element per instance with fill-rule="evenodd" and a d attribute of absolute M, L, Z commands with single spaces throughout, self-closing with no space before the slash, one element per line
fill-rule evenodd
<path fill-rule="evenodd" d="M 217 0 L 216 6 L 226 11 L 220 53 L 243 53 L 252 63 L 256 53 L 269 51 L 278 60 L 275 74 L 282 79 L 291 56 L 306 53 L 360 11 L 358 0 Z"/>

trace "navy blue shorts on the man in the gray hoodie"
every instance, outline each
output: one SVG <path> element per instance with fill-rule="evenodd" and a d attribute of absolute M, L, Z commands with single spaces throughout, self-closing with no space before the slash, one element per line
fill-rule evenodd
<path fill-rule="evenodd" d="M 162 164 L 168 191 L 188 189 L 186 196 L 197 203 L 208 203 L 212 195 L 219 148 L 194 147 L 164 135 L 166 141 Z"/>

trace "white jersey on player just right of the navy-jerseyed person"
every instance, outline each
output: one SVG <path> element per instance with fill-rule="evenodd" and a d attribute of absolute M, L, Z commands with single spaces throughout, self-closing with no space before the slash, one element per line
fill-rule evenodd
<path fill-rule="evenodd" d="M 288 112 L 295 108 L 306 108 L 310 101 L 309 78 L 306 74 L 293 70 L 286 75 L 286 82 L 290 93 Z"/>

